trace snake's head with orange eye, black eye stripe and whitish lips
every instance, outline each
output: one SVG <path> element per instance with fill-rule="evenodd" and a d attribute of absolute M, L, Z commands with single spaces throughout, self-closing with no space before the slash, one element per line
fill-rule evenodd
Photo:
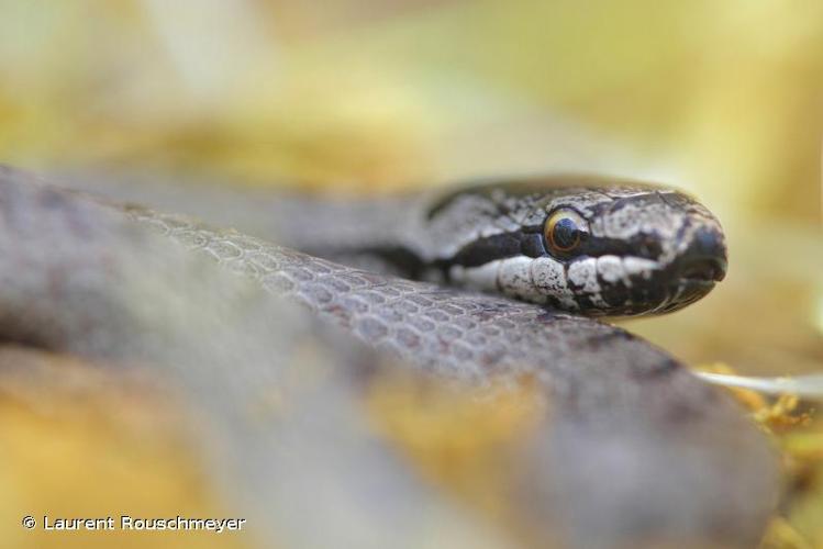
<path fill-rule="evenodd" d="M 681 309 L 726 272 L 720 223 L 677 190 L 563 176 L 476 197 L 494 204 L 486 211 L 500 231 L 454 255 L 453 281 L 586 315 L 621 316 Z"/>

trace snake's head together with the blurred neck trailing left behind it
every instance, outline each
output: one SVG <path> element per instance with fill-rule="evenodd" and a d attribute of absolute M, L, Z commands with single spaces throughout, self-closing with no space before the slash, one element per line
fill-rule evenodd
<path fill-rule="evenodd" d="M 292 203 L 269 231 L 314 255 L 586 316 L 672 312 L 726 271 L 724 234 L 711 212 L 686 193 L 638 181 L 472 182 L 367 208 L 382 213 L 342 201 L 334 210 Z M 307 227 L 305 219 L 321 222 Z M 341 236 L 341 226 L 353 228 Z"/>

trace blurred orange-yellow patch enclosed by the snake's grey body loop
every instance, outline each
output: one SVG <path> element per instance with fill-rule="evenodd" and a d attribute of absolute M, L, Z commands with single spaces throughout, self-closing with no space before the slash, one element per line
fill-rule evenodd
<path fill-rule="evenodd" d="M 527 540 L 534 525 L 512 505 L 523 481 L 518 464 L 530 436 L 550 428 L 535 380 L 471 388 L 386 372 L 368 386 L 366 406 L 377 430 L 426 479 Z"/>

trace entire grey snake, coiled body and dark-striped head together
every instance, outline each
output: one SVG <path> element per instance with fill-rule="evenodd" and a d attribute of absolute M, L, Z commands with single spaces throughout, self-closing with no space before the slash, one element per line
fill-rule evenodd
<path fill-rule="evenodd" d="M 381 369 L 538 388 L 548 412 L 503 491 L 526 545 L 753 547 L 763 536 L 780 489 L 770 442 L 677 359 L 592 318 L 670 313 L 722 280 L 723 231 L 694 198 L 560 175 L 435 198 L 252 202 L 268 234 L 3 168 L 0 337 L 177 380 L 209 418 L 204 438 L 222 440 L 215 455 L 241 498 L 294 546 L 335 539 L 316 524 L 342 547 L 421 547 L 431 531 L 449 547 L 511 541 L 353 430 L 362 380 Z M 329 373 L 322 391 L 294 390 L 292 421 L 245 415 L 305 362 Z M 303 445 L 301 458 L 282 440 Z M 338 473 L 321 482 L 332 503 L 312 492 L 320 466 Z M 340 502 L 368 527 L 335 520 Z"/>

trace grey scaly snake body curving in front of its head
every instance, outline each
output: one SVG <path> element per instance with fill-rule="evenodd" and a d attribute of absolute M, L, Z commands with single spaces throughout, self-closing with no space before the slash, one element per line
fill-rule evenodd
<path fill-rule="evenodd" d="M 683 219 L 691 223 L 676 225 L 681 238 L 707 234 L 713 219 L 693 202 L 646 194 L 635 200 L 689 213 Z M 574 195 L 582 200 L 579 191 Z M 602 194 L 591 199 L 593 209 L 607 201 Z M 609 195 L 608 202 L 614 199 Z M 231 415 L 245 393 L 234 390 L 236 381 L 225 383 L 224 394 L 203 389 L 209 380 L 192 373 L 203 369 L 196 363 L 211 365 L 204 371 L 214 379 L 225 380 L 229 369 L 252 379 L 267 376 L 282 359 L 278 348 L 285 345 L 267 330 L 287 333 L 302 325 L 302 309 L 323 325 L 336 326 L 344 339 L 394 357 L 410 371 L 480 384 L 536 380 L 550 403 L 550 421 L 515 466 L 520 481 L 513 505 L 532 524 L 561 531 L 564 545 L 748 547 L 771 513 L 776 462 L 761 435 L 729 397 L 614 326 L 502 296 L 377 274 L 144 208 L 100 205 L 10 169 L 0 173 L 0 334 L 5 339 L 182 365 L 185 384 L 194 394 L 208 394 L 200 404 L 221 416 Z M 693 220 L 709 221 L 699 226 Z M 670 250 L 657 251 L 655 260 Z M 682 257 L 678 254 L 669 258 L 676 261 L 675 256 Z M 204 262 L 202 256 L 216 261 Z M 674 264 L 661 271 L 671 272 L 668 265 Z M 24 271 L 36 276 L 22 279 Z M 226 278 L 226 271 L 242 276 Z M 182 274 L 191 282 L 175 282 Z M 171 295 L 162 288 L 170 288 Z M 221 296 L 216 309 L 203 309 L 214 301 L 205 299 L 210 292 Z M 574 301 L 578 309 L 597 304 L 591 295 Z M 667 294 L 654 306 L 682 302 Z M 232 349 L 246 349 L 237 356 L 227 356 L 216 343 L 235 339 L 242 345 Z M 245 425 L 242 417 L 237 423 Z M 256 430 L 241 439 L 245 446 L 238 451 L 253 447 L 265 457 L 274 450 L 260 440 L 271 437 L 277 433 Z M 249 470 L 277 474 L 260 469 L 259 457 Z M 322 505 L 315 511 L 321 513 Z M 303 534 L 299 541 L 309 536 Z"/>

